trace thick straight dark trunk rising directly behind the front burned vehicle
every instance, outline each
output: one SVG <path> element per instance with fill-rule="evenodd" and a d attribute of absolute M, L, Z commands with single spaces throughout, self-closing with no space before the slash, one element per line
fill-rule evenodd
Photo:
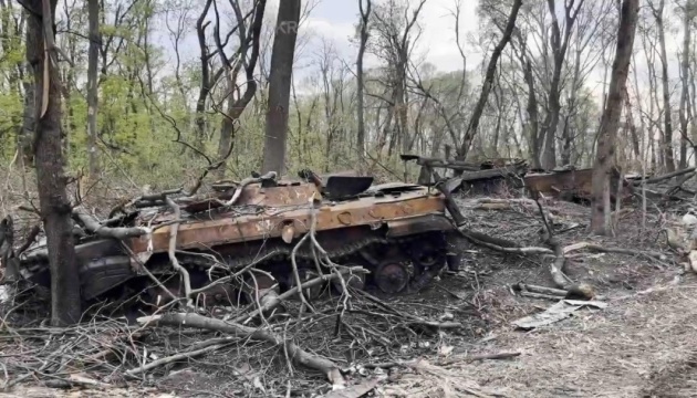
<path fill-rule="evenodd" d="M 269 74 L 269 108 L 267 136 L 263 146 L 263 172 L 285 172 L 285 142 L 288 139 L 288 107 L 290 105 L 295 40 L 300 21 L 301 0 L 284 0 L 279 6 L 275 38 Z"/>

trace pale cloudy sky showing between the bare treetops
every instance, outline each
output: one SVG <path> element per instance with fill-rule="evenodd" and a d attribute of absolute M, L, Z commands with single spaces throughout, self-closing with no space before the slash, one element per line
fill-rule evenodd
<path fill-rule="evenodd" d="M 197 1 L 197 0 L 194 0 Z M 269 0 L 267 3 L 266 23 L 273 25 L 275 22 L 275 14 L 278 11 L 280 0 Z M 384 0 L 373 0 L 374 3 L 382 2 Z M 457 0 L 427 0 L 419 14 L 419 25 L 422 27 L 422 34 L 418 39 L 415 55 L 419 60 L 425 60 L 436 66 L 438 72 L 451 72 L 461 69 L 462 60 L 455 41 L 455 17 L 454 10 Z M 556 0 L 560 3 L 563 0 Z M 601 0 L 593 0 L 601 1 Z M 415 4 L 417 1 L 409 1 Z M 322 51 L 323 45 L 330 42 L 339 56 L 351 67 L 355 66 L 355 59 L 357 54 L 357 45 L 351 43 L 351 38 L 355 33 L 355 24 L 358 21 L 358 0 L 303 0 L 304 4 L 313 4 L 310 13 L 301 23 L 301 38 L 304 35 L 306 42 L 301 44 L 297 54 L 295 69 L 293 71 L 293 78 L 295 81 L 297 88 L 300 92 L 304 92 L 306 77 L 311 74 L 315 74 L 318 66 L 312 64 L 313 60 L 316 60 L 318 54 Z M 465 54 L 467 56 L 467 69 L 479 69 L 480 62 L 483 59 L 481 50 L 476 46 L 468 45 L 469 38 L 478 36 L 479 20 L 477 18 L 476 9 L 478 7 L 478 0 L 461 0 L 461 14 L 460 14 L 460 41 L 465 45 Z M 677 62 L 677 53 L 682 41 L 682 32 L 679 29 L 679 18 L 674 19 L 670 15 L 670 11 L 667 11 L 666 22 L 674 28 L 666 34 L 666 44 L 668 48 L 669 56 L 669 75 L 672 78 L 677 78 L 679 73 L 679 64 Z M 195 18 L 195 15 L 194 15 Z M 189 32 L 184 39 L 184 45 L 181 46 L 183 55 L 188 60 L 198 60 L 199 49 L 196 39 L 195 29 L 189 25 Z M 209 28 L 209 31 L 211 28 Z M 637 32 L 638 33 L 638 32 Z M 162 34 L 160 44 L 171 50 L 171 43 L 167 36 L 167 32 L 160 30 Z M 302 39 L 301 39 L 302 40 Z M 635 39 L 634 51 L 637 54 L 636 65 L 639 72 L 639 82 L 643 88 L 647 88 L 647 65 L 644 59 L 644 50 L 642 42 L 637 35 Z M 174 59 L 174 51 L 169 54 Z M 614 54 L 608 54 L 611 57 Z M 173 63 L 169 63 L 171 66 Z M 377 60 L 366 53 L 365 66 L 371 67 L 377 65 Z M 587 87 L 602 98 L 603 92 L 603 69 L 599 64 L 586 81 Z"/>

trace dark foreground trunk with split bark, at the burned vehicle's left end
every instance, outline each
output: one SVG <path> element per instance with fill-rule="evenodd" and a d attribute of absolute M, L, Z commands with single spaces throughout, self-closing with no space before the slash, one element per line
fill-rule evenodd
<path fill-rule="evenodd" d="M 28 1 L 27 61 L 34 74 L 34 158 L 41 218 L 46 232 L 51 269 L 51 322 L 76 323 L 82 313 L 80 279 L 72 234 L 72 208 L 65 190 L 61 145 L 61 82 L 58 71 L 53 20 L 58 0 Z"/>

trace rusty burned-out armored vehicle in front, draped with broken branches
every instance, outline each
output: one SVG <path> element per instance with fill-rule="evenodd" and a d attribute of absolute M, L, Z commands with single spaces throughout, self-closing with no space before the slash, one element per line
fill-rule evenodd
<path fill-rule="evenodd" d="M 209 302 L 239 303 L 249 298 L 245 286 L 250 284 L 257 292 L 292 289 L 292 260 L 302 281 L 315 277 L 322 271 L 315 263 L 316 248 L 298 247 L 311 230 L 332 262 L 370 271 L 353 275 L 350 284 L 356 289 L 386 294 L 418 290 L 447 263 L 455 229 L 446 217 L 444 196 L 434 188 L 374 185 L 372 177 L 320 177 L 310 170 L 294 180 L 277 180 L 274 174 L 254 177 L 252 184 L 237 184 L 206 198 L 142 205 L 107 222 L 112 229 L 146 229 L 141 237 L 77 238 L 84 302 L 139 296 L 141 302 L 162 304 L 167 296 L 180 297 L 184 290 L 170 261 L 170 244 L 191 290 L 206 293 Z M 173 201 L 178 206 L 168 206 Z M 176 242 L 170 242 L 173 229 Z M 49 289 L 45 242 L 19 258 L 23 279 Z M 305 296 L 327 289 L 340 286 L 315 286 Z"/>

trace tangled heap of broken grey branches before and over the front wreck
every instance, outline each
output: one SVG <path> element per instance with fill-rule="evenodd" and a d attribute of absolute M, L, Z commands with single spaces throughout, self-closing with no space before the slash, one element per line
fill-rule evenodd
<path fill-rule="evenodd" d="M 235 205 L 242 188 L 243 185 L 239 186 L 231 198 L 221 205 Z M 15 347 L 3 350 L 11 358 L 8 374 L 17 375 L 20 371 L 20 376 L 8 377 L 6 388 L 27 379 L 102 388 L 160 373 L 177 364 L 191 363 L 204 355 L 235 350 L 237 362 L 243 358 L 248 362 L 267 358 L 266 366 L 278 368 L 277 375 L 292 376 L 297 371 L 294 366 L 314 369 L 332 383 L 333 389 L 342 389 L 346 386 L 345 376 L 351 374 L 351 366 L 355 362 L 364 358 L 395 360 L 405 355 L 413 356 L 409 347 L 416 346 L 416 342 L 439 338 L 438 331 L 459 329 L 462 326 L 458 322 L 433 321 L 416 311 L 397 310 L 367 292 L 354 290 L 347 281 L 351 276 L 366 273 L 366 270 L 334 263 L 318 242 L 314 198 L 309 202 L 310 231 L 291 254 L 295 286 L 283 294 L 273 294 L 273 291 L 268 291 L 263 297 L 256 294 L 251 306 L 232 308 L 225 317 L 220 314 L 214 316 L 197 306 L 194 298 L 199 292 L 191 289 L 188 273 L 177 260 L 177 231 L 181 221 L 179 206 L 183 201 L 170 198 L 169 193 L 162 193 L 129 203 L 145 199 L 167 206 L 174 213 L 174 220 L 169 223 L 168 254 L 173 269 L 181 276 L 184 297 L 173 296 L 173 301 L 160 306 L 155 315 L 138 318 L 137 325 L 128 326 L 125 321 L 112 320 L 69 329 L 10 329 L 7 336 L 0 335 L 0 338 L 10 342 L 8 346 Z M 127 214 L 126 207 L 119 206 L 112 211 L 112 216 L 116 212 Z M 143 227 L 116 227 L 118 223 L 113 220 L 98 222 L 81 207 L 74 211 L 73 218 L 84 230 L 101 237 L 147 237 L 152 231 Z M 300 279 L 295 261 L 295 254 L 303 244 L 311 245 L 320 275 L 309 281 Z M 141 259 L 131 254 L 136 263 L 143 265 Z M 250 264 L 214 283 L 229 282 L 252 270 L 253 264 Z M 164 286 L 156 276 L 150 273 L 147 275 L 156 285 Z M 305 296 L 304 292 L 309 287 L 327 285 L 329 282 L 341 286 L 337 297 L 311 302 Z M 293 298 L 299 300 L 299 307 L 295 307 Z M 279 311 L 281 304 L 283 308 Z M 155 354 L 152 338 L 163 333 L 168 336 L 195 333 L 208 338 Z M 263 354 L 269 349 L 272 349 L 271 355 Z"/>

